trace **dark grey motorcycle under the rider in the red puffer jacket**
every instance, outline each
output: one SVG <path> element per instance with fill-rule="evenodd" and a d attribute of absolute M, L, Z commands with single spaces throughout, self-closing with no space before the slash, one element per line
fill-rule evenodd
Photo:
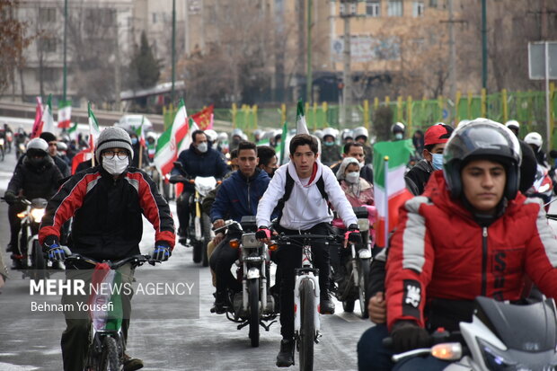
<path fill-rule="evenodd" d="M 438 330 L 432 348 L 413 349 L 393 356 L 432 355 L 454 361 L 446 371 L 556 370 L 557 308 L 553 299 L 531 305 L 510 305 L 479 296 L 472 322 L 460 322 L 460 331 Z M 449 342 L 450 341 L 450 342 Z M 389 346 L 392 340 L 387 338 Z"/>

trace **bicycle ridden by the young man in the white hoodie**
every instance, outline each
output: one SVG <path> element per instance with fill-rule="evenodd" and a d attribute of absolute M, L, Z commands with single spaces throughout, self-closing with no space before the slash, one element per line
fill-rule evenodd
<path fill-rule="evenodd" d="M 279 234 L 271 238 L 271 241 L 279 245 L 296 245 L 302 248 L 302 268 L 296 269 L 294 285 L 294 338 L 300 370 L 304 371 L 314 369 L 314 344 L 318 344 L 322 336 L 318 305 L 319 269 L 314 268 L 311 250 L 312 243 L 319 240 L 326 245 L 340 244 L 342 237 L 334 234 Z"/>

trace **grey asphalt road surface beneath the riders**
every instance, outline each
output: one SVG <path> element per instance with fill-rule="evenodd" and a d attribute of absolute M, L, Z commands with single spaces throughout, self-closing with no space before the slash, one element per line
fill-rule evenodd
<path fill-rule="evenodd" d="M 0 194 L 4 195 L 12 177 L 15 156 L 9 154 L 0 162 Z M 174 207 L 171 203 L 172 208 Z M 0 203 L 0 253 L 10 264 L 5 252 L 9 240 L 7 205 Z M 142 252 L 154 243 L 153 228 L 145 221 Z M 162 270 L 159 270 L 162 269 Z M 169 282 L 187 281 L 197 285 L 198 296 L 184 300 L 157 299 L 136 295 L 134 319 L 129 329 L 128 353 L 142 358 L 146 370 L 276 370 L 279 351 L 279 323 L 269 332 L 261 332 L 261 345 L 252 349 L 247 327 L 236 330 L 236 324 L 223 315 L 210 314 L 213 287 L 207 268 L 194 264 L 191 251 L 178 245 L 170 261 L 137 269 L 137 278 L 154 275 Z M 53 278 L 63 278 L 57 273 Z M 194 288 L 194 292 L 195 292 Z M 31 313 L 29 279 L 12 271 L 0 295 L 0 370 L 60 370 L 62 358 L 60 335 L 65 328 L 59 313 Z M 42 300 L 38 300 L 42 301 Z M 59 303 L 59 296 L 49 296 L 49 303 Z M 356 305 L 358 307 L 358 305 Z M 316 370 L 357 369 L 356 344 L 371 322 L 355 314 L 344 314 L 337 303 L 334 315 L 322 316 L 323 338 L 315 346 Z M 294 369 L 297 368 L 293 367 Z"/>

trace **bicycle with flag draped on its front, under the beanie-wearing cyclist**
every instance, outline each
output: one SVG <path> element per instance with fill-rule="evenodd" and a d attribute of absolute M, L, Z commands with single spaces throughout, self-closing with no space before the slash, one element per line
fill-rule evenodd
<path fill-rule="evenodd" d="M 120 261 L 95 261 L 80 254 L 71 254 L 66 257 L 66 266 L 80 269 L 85 265 L 97 267 L 98 264 L 106 263 L 110 269 L 119 269 L 124 264 L 131 263 L 134 268 L 148 262 L 155 265 L 149 255 L 134 255 Z M 83 269 L 83 268 L 81 268 Z M 112 282 L 111 282 L 112 283 Z M 93 295 L 93 294 L 92 294 Z M 101 301 L 106 298 L 102 297 Z M 104 302 L 106 303 L 106 302 Z M 117 305 L 114 305 L 117 306 Z M 85 371 L 119 371 L 123 367 L 124 358 L 124 335 L 121 329 L 123 315 L 102 316 L 98 311 L 90 311 L 91 332 L 89 336 L 89 347 Z"/>

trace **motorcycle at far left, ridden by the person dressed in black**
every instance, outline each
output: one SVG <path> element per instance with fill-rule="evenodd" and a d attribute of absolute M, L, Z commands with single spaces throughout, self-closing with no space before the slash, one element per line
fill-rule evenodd
<path fill-rule="evenodd" d="M 23 278 L 31 279 L 49 278 L 47 269 L 52 267 L 52 262 L 45 258 L 39 243 L 39 227 L 42 216 L 45 215 L 48 201 L 46 199 L 20 198 L 25 210 L 17 215 L 22 219 L 22 227 L 17 237 L 17 246 L 13 246 L 12 258 L 19 261 L 23 270 Z"/>

